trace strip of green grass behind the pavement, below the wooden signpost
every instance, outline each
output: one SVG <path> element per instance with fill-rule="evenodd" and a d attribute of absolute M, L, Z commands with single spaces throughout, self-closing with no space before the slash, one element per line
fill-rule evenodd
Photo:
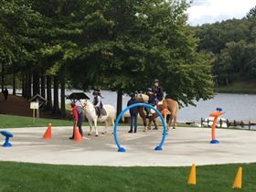
<path fill-rule="evenodd" d="M 72 126 L 72 122 L 66 120 L 38 118 L 36 123 L 33 123 L 32 117 L 0 114 L 0 128 L 46 127 L 48 123 L 53 126 Z"/>

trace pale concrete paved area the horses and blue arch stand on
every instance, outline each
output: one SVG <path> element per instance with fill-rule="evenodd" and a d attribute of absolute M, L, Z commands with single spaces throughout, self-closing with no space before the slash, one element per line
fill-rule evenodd
<path fill-rule="evenodd" d="M 86 127 L 85 131 L 89 128 Z M 103 130 L 101 127 L 100 130 Z M 166 136 L 164 150 L 155 151 L 162 130 L 127 133 L 119 127 L 119 140 L 126 153 L 118 153 L 112 130 L 81 143 L 69 140 L 71 127 L 52 127 L 52 139 L 42 139 L 46 128 L 7 129 L 14 133 L 12 147 L 0 147 L 1 161 L 55 165 L 180 166 L 256 162 L 256 132 L 218 129 L 220 144 L 209 144 L 210 129 L 177 128 Z M 3 139 L 4 143 L 4 138 Z"/>

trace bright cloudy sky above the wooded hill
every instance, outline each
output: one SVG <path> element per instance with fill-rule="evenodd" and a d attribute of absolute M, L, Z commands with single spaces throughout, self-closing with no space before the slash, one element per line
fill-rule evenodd
<path fill-rule="evenodd" d="M 191 26 L 242 18 L 256 5 L 256 0 L 193 0 L 188 8 Z"/>

